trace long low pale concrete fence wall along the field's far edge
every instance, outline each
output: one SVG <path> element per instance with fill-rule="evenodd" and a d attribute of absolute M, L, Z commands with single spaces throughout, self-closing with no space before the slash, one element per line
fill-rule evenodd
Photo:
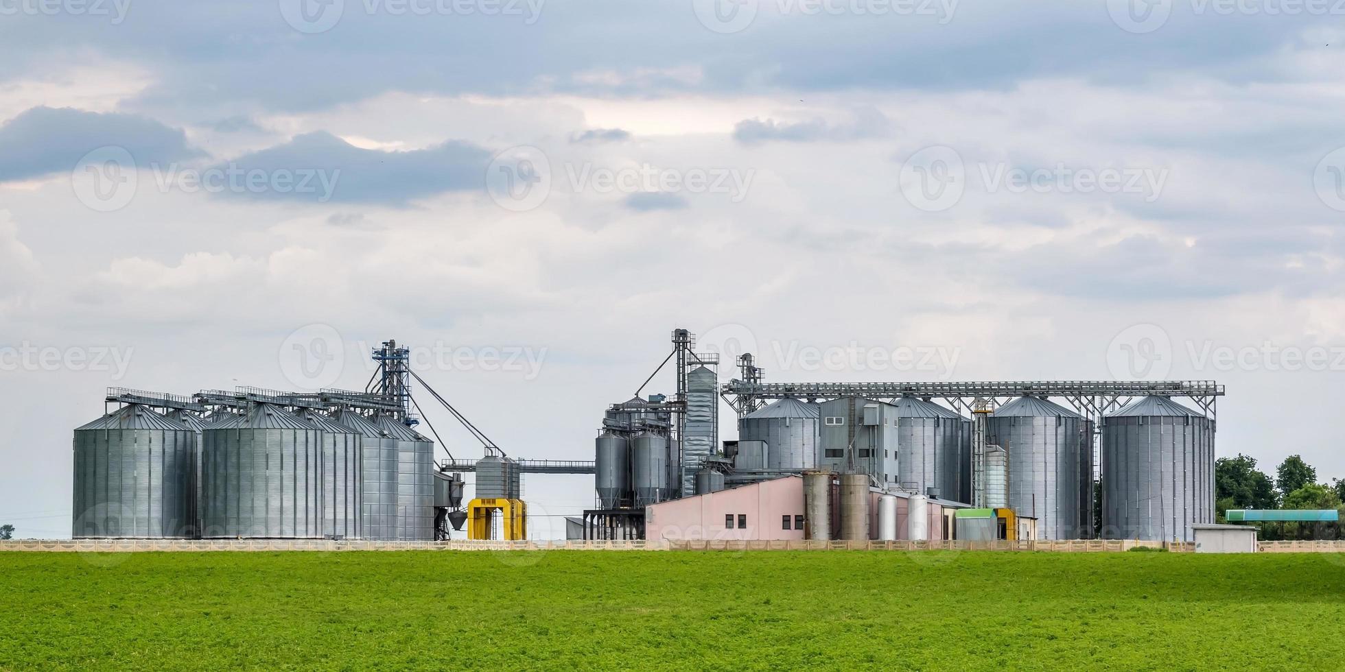
<path fill-rule="evenodd" d="M 1266 542 L 1307 544 L 1311 542 Z M 1266 546 L 1263 543 L 1263 546 Z M 807 540 L 654 540 L 654 542 L 369 542 L 327 539 L 78 539 L 0 542 L 0 551 L 147 552 L 147 551 L 1056 551 L 1115 552 L 1137 546 L 1194 550 L 1190 543 L 1080 539 L 1069 542 L 807 542 Z M 1309 548 L 1286 548 L 1303 552 Z M 1345 546 L 1338 547 L 1345 550 Z"/>

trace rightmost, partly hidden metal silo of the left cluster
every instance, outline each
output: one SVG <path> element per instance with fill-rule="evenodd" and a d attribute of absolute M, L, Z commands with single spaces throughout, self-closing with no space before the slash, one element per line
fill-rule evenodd
<path fill-rule="evenodd" d="M 379 414 L 378 429 L 397 442 L 397 539 L 434 539 L 434 442 L 401 419 Z"/>

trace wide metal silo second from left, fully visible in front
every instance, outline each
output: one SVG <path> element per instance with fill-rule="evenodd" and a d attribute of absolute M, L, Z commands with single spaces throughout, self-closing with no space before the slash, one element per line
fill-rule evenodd
<path fill-rule="evenodd" d="M 320 434 L 269 403 L 206 427 L 202 536 L 321 538 Z"/>

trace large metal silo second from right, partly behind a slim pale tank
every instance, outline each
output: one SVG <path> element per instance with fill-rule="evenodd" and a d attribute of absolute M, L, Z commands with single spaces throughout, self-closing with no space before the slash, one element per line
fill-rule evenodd
<path fill-rule="evenodd" d="M 990 442 L 1009 453 L 1009 508 L 1037 519 L 1041 539 L 1079 539 L 1083 418 L 1059 403 L 1020 396 L 989 419 Z"/>

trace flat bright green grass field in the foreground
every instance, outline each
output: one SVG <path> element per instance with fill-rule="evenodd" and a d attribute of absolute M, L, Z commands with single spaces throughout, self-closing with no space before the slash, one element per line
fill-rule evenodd
<path fill-rule="evenodd" d="M 1345 665 L 1345 558 L 0 554 L 0 669 Z"/>

